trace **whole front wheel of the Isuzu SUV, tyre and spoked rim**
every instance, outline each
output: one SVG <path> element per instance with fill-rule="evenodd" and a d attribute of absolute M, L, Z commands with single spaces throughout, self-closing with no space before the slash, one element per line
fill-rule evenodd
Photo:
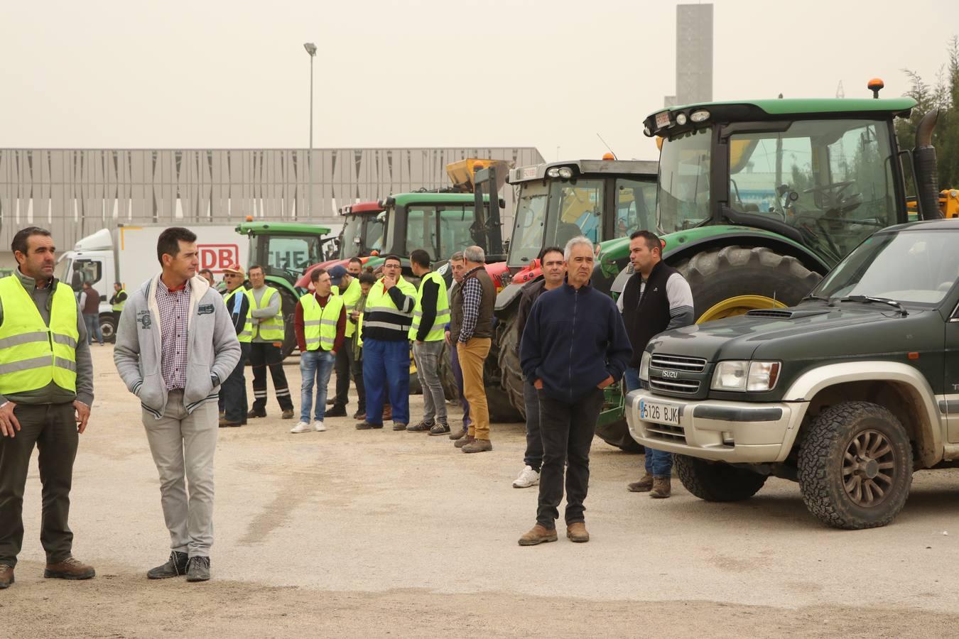
<path fill-rule="evenodd" d="M 896 416 L 868 401 L 830 406 L 799 449 L 799 488 L 810 513 L 835 528 L 885 526 L 912 486 L 912 445 Z"/>

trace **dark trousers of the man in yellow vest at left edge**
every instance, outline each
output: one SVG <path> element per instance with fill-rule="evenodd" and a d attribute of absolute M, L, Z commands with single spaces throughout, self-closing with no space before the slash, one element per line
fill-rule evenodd
<path fill-rule="evenodd" d="M 39 450 L 43 486 L 40 543 L 47 563 L 58 563 L 70 557 L 73 547 L 73 533 L 67 525 L 79 443 L 73 403 L 21 403 L 13 415 L 20 430 L 15 437 L 0 437 L 0 563 L 16 565 L 23 546 L 23 491 L 34 445 Z"/>

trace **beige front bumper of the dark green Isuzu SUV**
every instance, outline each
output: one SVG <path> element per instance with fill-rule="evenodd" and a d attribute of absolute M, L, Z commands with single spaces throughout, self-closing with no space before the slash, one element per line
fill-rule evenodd
<path fill-rule="evenodd" d="M 641 402 L 678 408 L 678 425 L 643 421 Z M 782 462 L 789 455 L 808 402 L 664 398 L 647 390 L 626 396 L 629 434 L 644 446 L 731 463 Z M 671 411 L 665 411 L 665 413 Z"/>

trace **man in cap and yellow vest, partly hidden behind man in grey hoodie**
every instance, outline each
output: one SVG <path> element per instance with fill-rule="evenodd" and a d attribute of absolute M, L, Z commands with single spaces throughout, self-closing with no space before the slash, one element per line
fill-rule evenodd
<path fill-rule="evenodd" d="M 223 416 L 220 427 L 242 426 L 246 423 L 246 376 L 244 367 L 249 357 L 250 341 L 253 339 L 253 323 L 250 318 L 249 290 L 244 285 L 245 273 L 240 264 L 231 264 L 223 269 L 223 282 L 226 290 L 223 301 L 230 313 L 230 321 L 240 340 L 240 361 L 229 377 L 223 380 L 220 389 Z"/>

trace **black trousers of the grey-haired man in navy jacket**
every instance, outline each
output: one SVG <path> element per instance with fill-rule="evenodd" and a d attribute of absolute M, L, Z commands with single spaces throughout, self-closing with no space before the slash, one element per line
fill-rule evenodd
<path fill-rule="evenodd" d="M 590 483 L 590 445 L 603 393 L 594 388 L 567 403 L 539 392 L 540 432 L 543 434 L 543 468 L 540 470 L 536 523 L 552 529 L 563 500 L 563 462 L 566 471 L 566 525 L 583 521 L 583 501 Z"/>

